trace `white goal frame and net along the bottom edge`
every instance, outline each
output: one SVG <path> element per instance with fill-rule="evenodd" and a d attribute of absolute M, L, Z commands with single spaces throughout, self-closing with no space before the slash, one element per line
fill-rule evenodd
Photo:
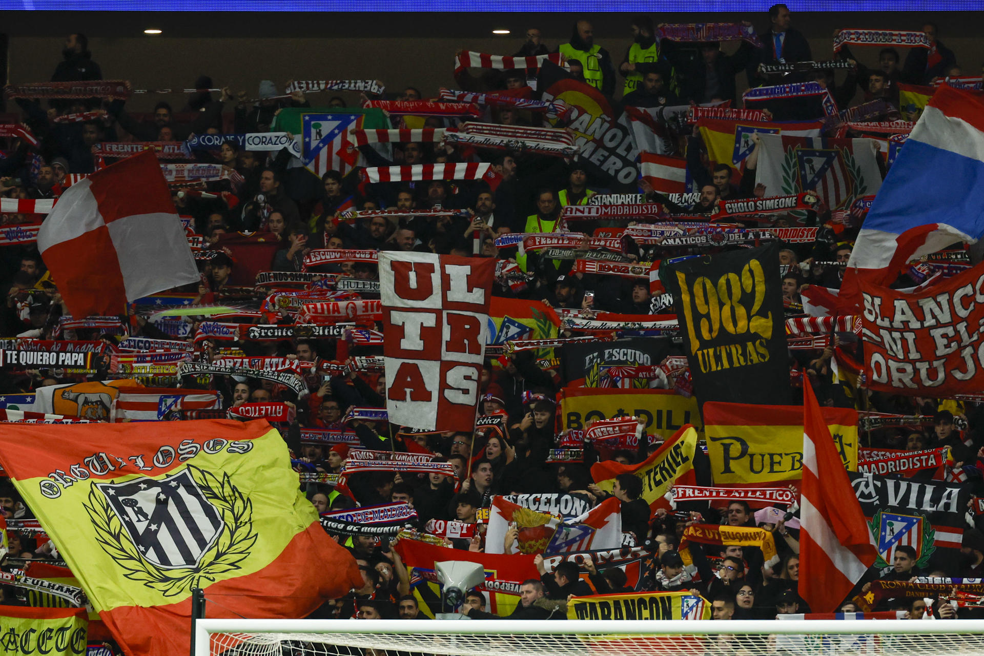
<path fill-rule="evenodd" d="M 192 656 L 984 656 L 984 622 L 198 620 Z"/>

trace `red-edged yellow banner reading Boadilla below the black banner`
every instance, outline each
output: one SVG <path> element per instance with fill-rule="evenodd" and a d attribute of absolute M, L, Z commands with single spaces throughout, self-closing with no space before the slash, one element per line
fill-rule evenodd
<path fill-rule="evenodd" d="M 704 431 L 697 398 L 670 389 L 564 388 L 560 411 L 565 430 L 583 430 L 597 419 L 635 415 L 645 420 L 646 433 L 663 440 L 687 424 Z"/>

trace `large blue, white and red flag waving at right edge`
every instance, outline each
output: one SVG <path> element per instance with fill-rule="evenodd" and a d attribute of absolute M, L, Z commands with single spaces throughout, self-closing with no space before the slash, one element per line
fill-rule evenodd
<path fill-rule="evenodd" d="M 841 310 L 860 304 L 858 279 L 888 286 L 902 266 L 984 235 L 984 98 L 941 87 L 882 183 L 847 263 Z M 944 203 L 941 199 L 947 199 Z"/>

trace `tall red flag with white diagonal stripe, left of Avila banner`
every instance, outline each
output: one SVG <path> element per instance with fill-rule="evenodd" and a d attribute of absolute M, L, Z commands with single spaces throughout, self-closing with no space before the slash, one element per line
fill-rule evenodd
<path fill-rule="evenodd" d="M 809 385 L 803 386 L 800 508 L 800 563 L 809 575 L 800 581 L 799 592 L 811 609 L 830 613 L 878 552 Z"/>

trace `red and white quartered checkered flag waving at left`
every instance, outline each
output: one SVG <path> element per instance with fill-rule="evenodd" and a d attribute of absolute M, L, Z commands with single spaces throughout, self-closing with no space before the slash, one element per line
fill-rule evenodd
<path fill-rule="evenodd" d="M 199 280 L 151 150 L 72 185 L 41 224 L 37 249 L 75 317 L 125 314 L 127 301 Z"/>

